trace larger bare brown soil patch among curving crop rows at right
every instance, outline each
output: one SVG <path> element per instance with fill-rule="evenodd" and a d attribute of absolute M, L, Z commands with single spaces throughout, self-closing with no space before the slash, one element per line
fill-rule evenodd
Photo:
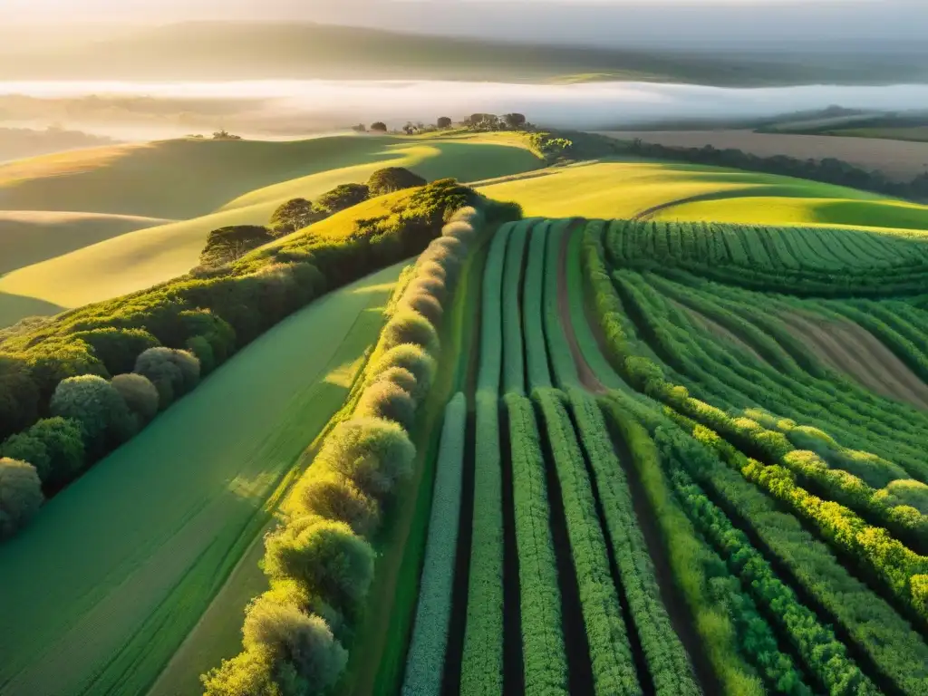
<path fill-rule="evenodd" d="M 780 317 L 832 369 L 875 393 L 928 410 L 928 385 L 870 331 L 851 322 L 818 321 L 796 312 Z"/>

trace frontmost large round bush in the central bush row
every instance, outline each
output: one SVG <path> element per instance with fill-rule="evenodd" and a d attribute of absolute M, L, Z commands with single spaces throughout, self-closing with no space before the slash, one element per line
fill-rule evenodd
<path fill-rule="evenodd" d="M 249 606 L 242 633 L 246 651 L 267 650 L 275 662 L 292 664 L 312 690 L 334 684 L 348 659 L 325 621 L 278 604 L 267 595 Z"/>

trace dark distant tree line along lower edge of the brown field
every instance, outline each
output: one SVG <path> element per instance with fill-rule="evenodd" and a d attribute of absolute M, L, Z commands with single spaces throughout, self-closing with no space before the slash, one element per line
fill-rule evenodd
<path fill-rule="evenodd" d="M 882 172 L 869 172 L 831 157 L 823 160 L 800 160 L 786 155 L 759 157 L 737 148 L 718 149 L 711 145 L 702 148 L 677 148 L 645 143 L 640 138 L 635 138 L 629 149 L 642 157 L 683 160 L 746 169 L 751 172 L 796 176 L 826 184 L 862 188 L 897 198 L 928 200 L 928 173 L 919 174 L 909 182 L 896 182 L 888 179 Z"/>

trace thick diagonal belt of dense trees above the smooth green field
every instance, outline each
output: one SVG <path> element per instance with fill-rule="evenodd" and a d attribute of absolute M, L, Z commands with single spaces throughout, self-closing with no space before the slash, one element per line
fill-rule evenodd
<path fill-rule="evenodd" d="M 385 201 L 383 216 L 346 220 L 351 228 L 344 235 L 294 237 L 212 275 L 175 278 L 7 337 L 0 343 L 0 452 L 11 436 L 28 431 L 30 442 L 54 453 L 47 455 L 48 470 L 60 473 L 49 474 L 55 481 L 50 479 L 45 491 L 57 490 L 130 436 L 145 422 L 143 414 L 151 412 L 151 390 L 120 375 L 135 371 L 147 378 L 163 408 L 196 382 L 195 362 L 200 374 L 208 374 L 320 294 L 415 255 L 454 211 L 478 200 L 476 192 L 453 180 L 434 182 L 411 196 Z M 518 213 L 494 203 L 487 209 L 503 217 Z M 72 387 L 72 378 L 83 379 Z M 84 406 L 66 407 L 71 398 L 74 404 L 94 406 L 96 416 L 80 413 Z M 120 404 L 131 406 L 136 418 L 122 418 Z M 39 423 L 58 416 L 65 422 Z M 79 423 L 84 438 L 80 464 L 72 449 L 58 445 L 74 439 L 70 420 Z M 38 430 L 31 431 L 33 426 Z M 14 445 L 19 457 L 25 445 Z M 41 448 L 35 449 L 39 453 L 30 456 L 42 466 Z M 0 490 L 0 498 L 4 495 Z"/>

